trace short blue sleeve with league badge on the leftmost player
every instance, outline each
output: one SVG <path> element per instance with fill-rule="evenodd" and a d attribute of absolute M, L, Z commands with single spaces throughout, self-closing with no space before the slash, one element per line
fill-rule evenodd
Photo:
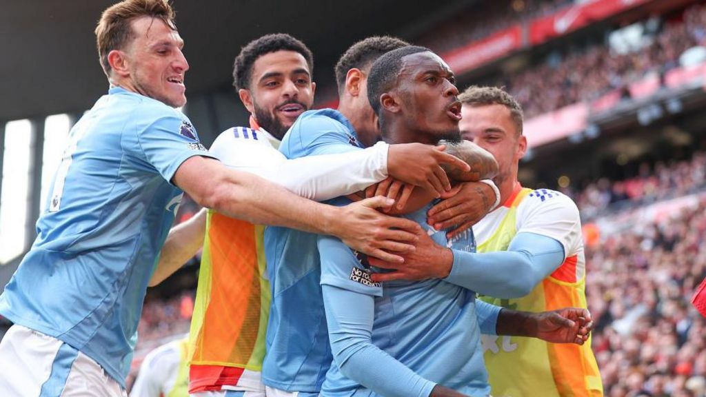
<path fill-rule="evenodd" d="M 157 119 L 138 131 L 137 138 L 145 160 L 169 182 L 186 159 L 195 155 L 215 158 L 198 141 L 191 123 L 176 116 Z"/>

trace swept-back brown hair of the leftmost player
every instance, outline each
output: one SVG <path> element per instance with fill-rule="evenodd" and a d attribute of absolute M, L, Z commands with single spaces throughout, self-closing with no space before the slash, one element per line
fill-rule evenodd
<path fill-rule="evenodd" d="M 130 25 L 131 21 L 140 16 L 160 18 L 174 30 L 174 10 L 167 0 L 124 0 L 103 11 L 95 28 L 96 46 L 100 66 L 106 76 L 110 76 L 111 68 L 108 54 L 114 49 L 124 49 L 135 38 Z"/>

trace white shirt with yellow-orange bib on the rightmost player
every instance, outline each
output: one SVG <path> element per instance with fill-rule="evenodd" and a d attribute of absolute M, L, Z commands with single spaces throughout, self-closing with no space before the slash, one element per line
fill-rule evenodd
<path fill-rule="evenodd" d="M 551 237 L 564 248 L 564 261 L 516 299 L 481 297 L 514 310 L 544 312 L 587 307 L 586 267 L 576 205 L 549 189 L 522 189 L 473 226 L 479 252 L 505 251 L 518 233 Z M 580 346 L 536 338 L 484 336 L 483 350 L 493 396 L 602 396 L 603 387 L 591 340 Z"/>

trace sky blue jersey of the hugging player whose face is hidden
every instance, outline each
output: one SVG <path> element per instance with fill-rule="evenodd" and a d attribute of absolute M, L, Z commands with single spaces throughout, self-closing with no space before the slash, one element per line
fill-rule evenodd
<path fill-rule="evenodd" d="M 282 139 L 287 158 L 362 150 L 353 126 L 333 109 L 299 116 Z M 331 349 L 321 297 L 317 235 L 268 227 L 265 257 L 272 287 L 263 382 L 287 391 L 318 392 Z"/>

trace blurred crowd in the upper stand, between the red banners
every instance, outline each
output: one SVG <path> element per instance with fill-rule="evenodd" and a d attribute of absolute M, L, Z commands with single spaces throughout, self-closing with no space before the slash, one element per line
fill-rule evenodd
<path fill-rule="evenodd" d="M 644 47 L 624 54 L 605 44 L 552 52 L 544 63 L 503 76 L 493 85 L 505 86 L 526 117 L 551 112 L 577 102 L 591 102 L 618 90 L 629 95 L 630 83 L 648 73 L 660 75 L 679 65 L 686 50 L 706 45 L 706 6 L 687 8 L 683 18 L 664 23 Z"/>

